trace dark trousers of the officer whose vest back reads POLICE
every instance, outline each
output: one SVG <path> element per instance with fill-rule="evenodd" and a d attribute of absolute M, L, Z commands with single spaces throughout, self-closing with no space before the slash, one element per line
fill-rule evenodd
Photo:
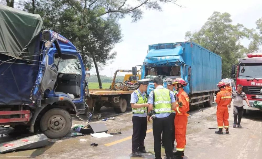
<path fill-rule="evenodd" d="M 164 138 L 164 146 L 165 146 L 165 152 L 167 159 L 170 159 L 173 157 L 173 151 L 172 151 L 172 140 L 170 140 L 171 136 L 171 118 L 172 116 L 169 115 L 165 118 L 155 118 L 153 119 L 153 135 L 154 135 L 154 151 L 156 159 L 162 159 L 161 158 L 161 133 L 163 132 L 163 138 Z"/>

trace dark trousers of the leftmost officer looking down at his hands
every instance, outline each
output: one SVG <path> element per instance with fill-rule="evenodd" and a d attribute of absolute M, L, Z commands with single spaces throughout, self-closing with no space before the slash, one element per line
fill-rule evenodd
<path fill-rule="evenodd" d="M 132 135 L 132 151 L 145 150 L 144 140 L 146 137 L 147 120 L 146 117 L 132 117 L 133 135 Z"/>

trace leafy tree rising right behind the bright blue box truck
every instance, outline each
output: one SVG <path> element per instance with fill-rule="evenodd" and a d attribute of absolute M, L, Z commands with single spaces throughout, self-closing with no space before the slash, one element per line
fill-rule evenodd
<path fill-rule="evenodd" d="M 222 57 L 222 78 L 231 74 L 231 65 L 249 52 L 240 40 L 250 38 L 253 30 L 242 24 L 233 25 L 229 13 L 214 12 L 199 31 L 186 32 L 185 39 L 194 41 Z"/>

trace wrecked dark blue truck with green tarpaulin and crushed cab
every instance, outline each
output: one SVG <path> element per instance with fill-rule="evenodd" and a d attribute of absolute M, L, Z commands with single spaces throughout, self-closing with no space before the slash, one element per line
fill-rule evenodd
<path fill-rule="evenodd" d="M 0 28 L 0 125 L 65 136 L 88 108 L 80 53 L 40 15 L 0 5 Z"/>

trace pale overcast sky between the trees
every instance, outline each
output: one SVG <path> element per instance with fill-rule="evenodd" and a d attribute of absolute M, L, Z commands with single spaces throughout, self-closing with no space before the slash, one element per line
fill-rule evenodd
<path fill-rule="evenodd" d="M 123 40 L 112 50 L 117 52 L 116 58 L 100 69 L 100 75 L 113 76 L 116 69 L 132 69 L 143 64 L 148 45 L 185 41 L 185 32 L 198 31 L 214 11 L 230 13 L 233 24 L 240 23 L 249 29 L 256 28 L 256 20 L 262 17 L 259 0 L 180 0 L 178 3 L 184 8 L 167 3 L 162 5 L 162 12 L 145 10 L 143 19 L 137 23 L 132 23 L 128 16 L 121 19 Z M 248 46 L 248 40 L 242 44 Z M 95 68 L 90 74 L 96 74 Z"/>

